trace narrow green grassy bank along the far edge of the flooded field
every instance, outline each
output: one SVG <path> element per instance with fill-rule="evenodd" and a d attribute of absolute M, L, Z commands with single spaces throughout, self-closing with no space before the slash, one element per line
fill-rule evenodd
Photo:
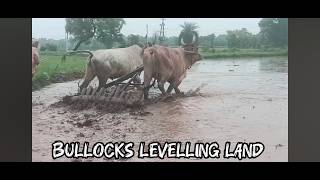
<path fill-rule="evenodd" d="M 271 57 L 287 56 L 287 49 L 224 49 L 224 48 L 203 48 L 200 53 L 205 59 L 216 58 L 242 58 L 242 57 Z"/>

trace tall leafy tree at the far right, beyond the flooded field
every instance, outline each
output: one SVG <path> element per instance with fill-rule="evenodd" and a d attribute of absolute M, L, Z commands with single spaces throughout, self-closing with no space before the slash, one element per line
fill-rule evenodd
<path fill-rule="evenodd" d="M 259 27 L 263 44 L 275 47 L 288 46 L 287 18 L 263 18 Z"/>

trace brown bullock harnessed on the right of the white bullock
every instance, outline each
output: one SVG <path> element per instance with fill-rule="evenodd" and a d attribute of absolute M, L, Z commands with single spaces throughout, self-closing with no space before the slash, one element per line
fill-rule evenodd
<path fill-rule="evenodd" d="M 158 82 L 158 87 L 163 95 L 170 94 L 174 89 L 180 94 L 178 86 L 186 77 L 187 69 L 202 59 L 198 48 L 188 51 L 184 48 L 169 48 L 164 46 L 146 47 L 142 52 L 144 66 L 144 98 L 148 99 L 148 91 L 152 78 Z M 165 91 L 164 84 L 170 85 Z"/>

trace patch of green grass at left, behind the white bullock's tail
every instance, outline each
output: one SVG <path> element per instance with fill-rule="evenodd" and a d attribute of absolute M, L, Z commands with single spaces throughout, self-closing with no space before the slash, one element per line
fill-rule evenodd
<path fill-rule="evenodd" d="M 61 54 L 40 54 L 38 72 L 32 79 L 32 90 L 46 85 L 82 78 L 87 60 L 85 56 L 68 56 L 61 63 Z"/>

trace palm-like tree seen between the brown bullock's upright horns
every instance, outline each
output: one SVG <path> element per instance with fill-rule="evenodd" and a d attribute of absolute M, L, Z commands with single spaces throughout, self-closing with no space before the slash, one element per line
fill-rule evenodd
<path fill-rule="evenodd" d="M 196 25 L 196 23 L 192 22 L 185 22 L 184 25 L 181 25 L 182 31 L 179 35 L 179 45 L 181 45 L 181 39 L 183 40 L 184 43 L 190 44 L 193 41 L 194 35 L 196 36 L 196 42 L 198 43 L 198 33 L 196 31 L 199 26 Z"/>

